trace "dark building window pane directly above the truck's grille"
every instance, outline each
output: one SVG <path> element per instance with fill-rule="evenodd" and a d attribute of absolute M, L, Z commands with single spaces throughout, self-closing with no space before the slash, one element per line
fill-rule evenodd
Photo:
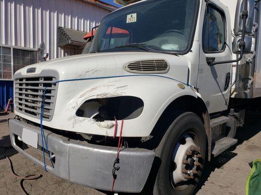
<path fill-rule="evenodd" d="M 13 49 L 14 73 L 25 66 L 37 63 L 37 52 Z"/>

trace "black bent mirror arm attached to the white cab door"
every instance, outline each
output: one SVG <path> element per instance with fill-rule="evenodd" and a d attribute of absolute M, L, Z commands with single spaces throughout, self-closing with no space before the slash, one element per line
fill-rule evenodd
<path fill-rule="evenodd" d="M 242 38 L 241 38 L 241 41 L 239 42 L 239 48 L 240 48 L 240 56 L 239 56 L 239 58 L 238 59 L 234 59 L 234 60 L 227 60 L 227 61 L 215 61 L 215 58 L 208 57 L 208 58 L 206 58 L 206 60 L 207 60 L 207 64 L 209 66 L 214 66 L 216 64 L 234 63 L 234 62 L 240 61 L 243 58 L 244 49 L 245 49 L 245 46 L 246 46 L 245 32 L 246 32 L 246 19 L 248 17 L 247 2 L 248 2 L 248 0 L 244 1 L 244 11 L 242 11 L 242 13 L 241 13 L 241 17 L 243 19 L 243 29 L 242 29 Z"/>

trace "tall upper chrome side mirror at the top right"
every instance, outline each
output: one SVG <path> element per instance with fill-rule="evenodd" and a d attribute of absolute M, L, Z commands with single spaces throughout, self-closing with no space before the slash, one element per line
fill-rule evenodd
<path fill-rule="evenodd" d="M 235 16 L 234 34 L 241 35 L 243 32 L 243 14 L 245 0 L 237 0 L 237 9 Z M 247 0 L 247 19 L 245 26 L 245 34 L 251 34 L 254 22 L 255 0 Z"/>

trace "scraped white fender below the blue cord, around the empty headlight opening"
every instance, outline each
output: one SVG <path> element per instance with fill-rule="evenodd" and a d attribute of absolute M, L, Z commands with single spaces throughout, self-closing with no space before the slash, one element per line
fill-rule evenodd
<path fill-rule="evenodd" d="M 95 119 L 77 117 L 77 109 L 86 100 L 94 98 L 110 98 L 118 96 L 133 96 L 144 102 L 142 114 L 134 119 L 124 120 L 124 137 L 147 137 L 162 115 L 166 107 L 176 98 L 192 96 L 196 93 L 189 87 L 178 87 L 179 81 L 154 76 L 137 76 L 124 78 L 106 78 L 99 80 L 81 80 L 59 83 L 59 90 L 74 89 L 58 95 L 55 112 L 51 121 L 44 121 L 48 127 L 84 134 L 113 136 L 114 121 L 107 121 L 111 128 L 103 128 Z M 77 87 L 88 86 L 80 92 Z M 64 89 L 64 90 L 61 90 Z M 58 109 L 59 108 L 59 109 Z M 21 114 L 20 114 L 21 116 Z M 34 119 L 33 119 L 34 120 Z M 37 121 L 37 119 L 36 119 Z M 120 127 L 121 121 L 118 121 Z M 119 130 L 118 130 L 119 136 Z"/>

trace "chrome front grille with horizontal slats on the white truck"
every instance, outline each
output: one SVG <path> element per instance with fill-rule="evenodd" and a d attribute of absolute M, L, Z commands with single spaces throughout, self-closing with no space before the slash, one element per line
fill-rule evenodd
<path fill-rule="evenodd" d="M 25 115 L 40 119 L 42 107 L 42 95 L 46 90 L 44 120 L 51 120 L 57 85 L 52 85 L 55 77 L 28 77 L 15 78 L 15 109 Z"/>

